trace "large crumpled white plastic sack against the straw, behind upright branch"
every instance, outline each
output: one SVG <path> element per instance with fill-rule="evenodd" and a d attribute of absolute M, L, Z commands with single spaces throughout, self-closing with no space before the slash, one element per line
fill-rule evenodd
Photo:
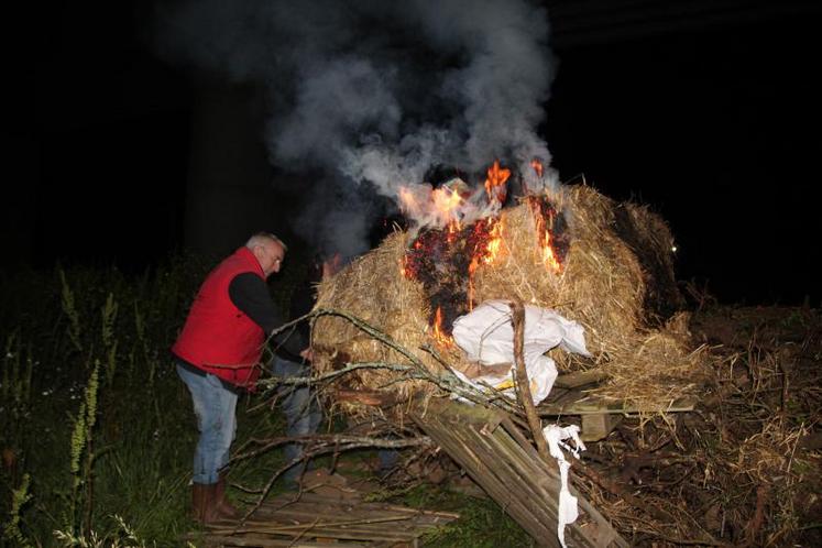
<path fill-rule="evenodd" d="M 591 355 L 585 348 L 582 326 L 547 308 L 525 305 L 525 337 L 523 358 L 528 374 L 534 405 L 545 399 L 557 379 L 557 365 L 542 355 L 554 347 Z M 470 314 L 453 322 L 453 340 L 465 351 L 468 359 L 482 364 L 514 363 L 514 326 L 511 307 L 505 300 L 487 300 Z M 459 375 L 465 380 L 464 375 Z M 512 371 L 497 375 L 481 375 L 469 381 L 474 386 L 482 383 L 498 390 L 513 387 Z"/>

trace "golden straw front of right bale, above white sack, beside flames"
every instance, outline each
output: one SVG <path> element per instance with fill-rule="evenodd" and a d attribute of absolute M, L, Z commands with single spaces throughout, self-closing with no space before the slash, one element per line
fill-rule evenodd
<path fill-rule="evenodd" d="M 632 336 L 642 318 L 642 266 L 613 231 L 614 202 L 588 186 L 569 188 L 558 200 L 571 232 L 560 272 L 547 268 L 536 222 L 523 204 L 504 211 L 501 255 L 482 265 L 474 286 L 479 302 L 518 297 L 552 308 L 585 327 L 589 350 L 607 351 Z"/>

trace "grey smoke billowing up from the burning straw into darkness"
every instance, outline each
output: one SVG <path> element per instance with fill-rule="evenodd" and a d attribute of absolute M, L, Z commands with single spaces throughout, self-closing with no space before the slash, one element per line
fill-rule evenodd
<path fill-rule="evenodd" d="M 358 185 L 396 199 L 437 165 L 500 158 L 545 184 L 528 165 L 550 162 L 536 129 L 555 63 L 547 14 L 527 0 L 180 1 L 158 23 L 167 56 L 265 87 L 274 165 L 325 174 L 297 227 L 363 237 L 377 208 Z"/>

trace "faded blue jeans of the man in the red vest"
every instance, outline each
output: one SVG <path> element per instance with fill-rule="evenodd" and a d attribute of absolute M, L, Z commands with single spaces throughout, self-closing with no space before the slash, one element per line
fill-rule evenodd
<path fill-rule="evenodd" d="M 179 365 L 177 374 L 191 393 L 200 431 L 194 452 L 194 482 L 217 483 L 237 434 L 237 393 L 226 388 L 212 374 L 198 375 Z"/>

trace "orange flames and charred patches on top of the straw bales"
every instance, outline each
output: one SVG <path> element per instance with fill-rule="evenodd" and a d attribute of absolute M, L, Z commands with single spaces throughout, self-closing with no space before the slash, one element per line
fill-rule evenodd
<path fill-rule="evenodd" d="M 531 163 L 538 174 L 542 165 Z M 428 296 L 428 324 L 439 344 L 451 346 L 454 319 L 476 304 L 475 274 L 494 267 L 505 253 L 503 232 L 511 171 L 496 161 L 487 168 L 484 189 L 471 189 L 454 177 L 437 188 L 428 184 L 399 189 L 403 210 L 415 221 L 414 240 L 399 261 L 404 277 L 423 285 Z M 484 193 L 483 193 L 484 190 Z M 561 272 L 570 245 L 565 215 L 547 195 L 525 198 L 537 224 L 535 253 L 551 272 Z"/>

